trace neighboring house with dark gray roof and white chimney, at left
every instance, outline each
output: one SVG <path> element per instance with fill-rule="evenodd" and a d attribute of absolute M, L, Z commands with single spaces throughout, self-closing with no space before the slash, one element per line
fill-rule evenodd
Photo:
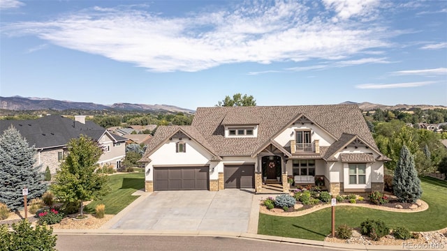
<path fill-rule="evenodd" d="M 91 137 L 103 147 L 103 155 L 98 161 L 100 165 L 119 168 L 126 156 L 126 138 L 114 135 L 92 121 L 85 121 L 85 116 L 75 116 L 75 120 L 58 115 L 29 120 L 0 120 L 0 131 L 11 125 L 20 131 L 30 146 L 34 145 L 36 165 L 42 165 L 43 170 L 50 167 L 53 174 L 68 153 L 66 145 L 70 139 L 80 135 Z"/>

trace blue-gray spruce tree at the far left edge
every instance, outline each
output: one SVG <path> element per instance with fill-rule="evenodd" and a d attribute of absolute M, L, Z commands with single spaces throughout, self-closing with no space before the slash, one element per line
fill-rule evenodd
<path fill-rule="evenodd" d="M 28 199 L 41 197 L 47 190 L 34 155 L 34 146 L 29 146 L 13 126 L 0 136 L 0 202 L 11 210 L 22 208 L 24 187 L 28 188 Z"/>

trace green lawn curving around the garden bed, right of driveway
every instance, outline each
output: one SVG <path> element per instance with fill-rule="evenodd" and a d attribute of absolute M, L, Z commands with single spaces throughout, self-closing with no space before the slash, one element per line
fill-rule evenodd
<path fill-rule="evenodd" d="M 423 197 L 429 208 L 419 213 L 395 213 L 354 206 L 337 206 L 335 225 L 360 227 L 360 222 L 380 219 L 393 228 L 403 226 L 410 231 L 434 231 L 447 227 L 447 182 L 421 178 Z M 331 208 L 298 217 L 280 217 L 260 213 L 258 234 L 286 236 L 323 241 L 331 231 Z"/>

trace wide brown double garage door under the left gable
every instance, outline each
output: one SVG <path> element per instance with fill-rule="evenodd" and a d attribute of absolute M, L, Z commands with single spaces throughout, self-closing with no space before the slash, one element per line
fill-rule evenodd
<path fill-rule="evenodd" d="M 209 167 L 155 167 L 154 190 L 210 190 Z"/>

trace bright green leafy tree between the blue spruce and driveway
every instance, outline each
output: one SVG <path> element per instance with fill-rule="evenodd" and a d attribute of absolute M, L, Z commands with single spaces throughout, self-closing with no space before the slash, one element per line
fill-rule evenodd
<path fill-rule="evenodd" d="M 68 142 L 68 155 L 61 169 L 54 176 L 51 186 L 54 195 L 65 202 L 80 202 L 80 215 L 83 214 L 83 201 L 95 199 L 101 195 L 108 177 L 98 174 L 96 162 L 103 150 L 96 142 L 81 135 Z"/>

